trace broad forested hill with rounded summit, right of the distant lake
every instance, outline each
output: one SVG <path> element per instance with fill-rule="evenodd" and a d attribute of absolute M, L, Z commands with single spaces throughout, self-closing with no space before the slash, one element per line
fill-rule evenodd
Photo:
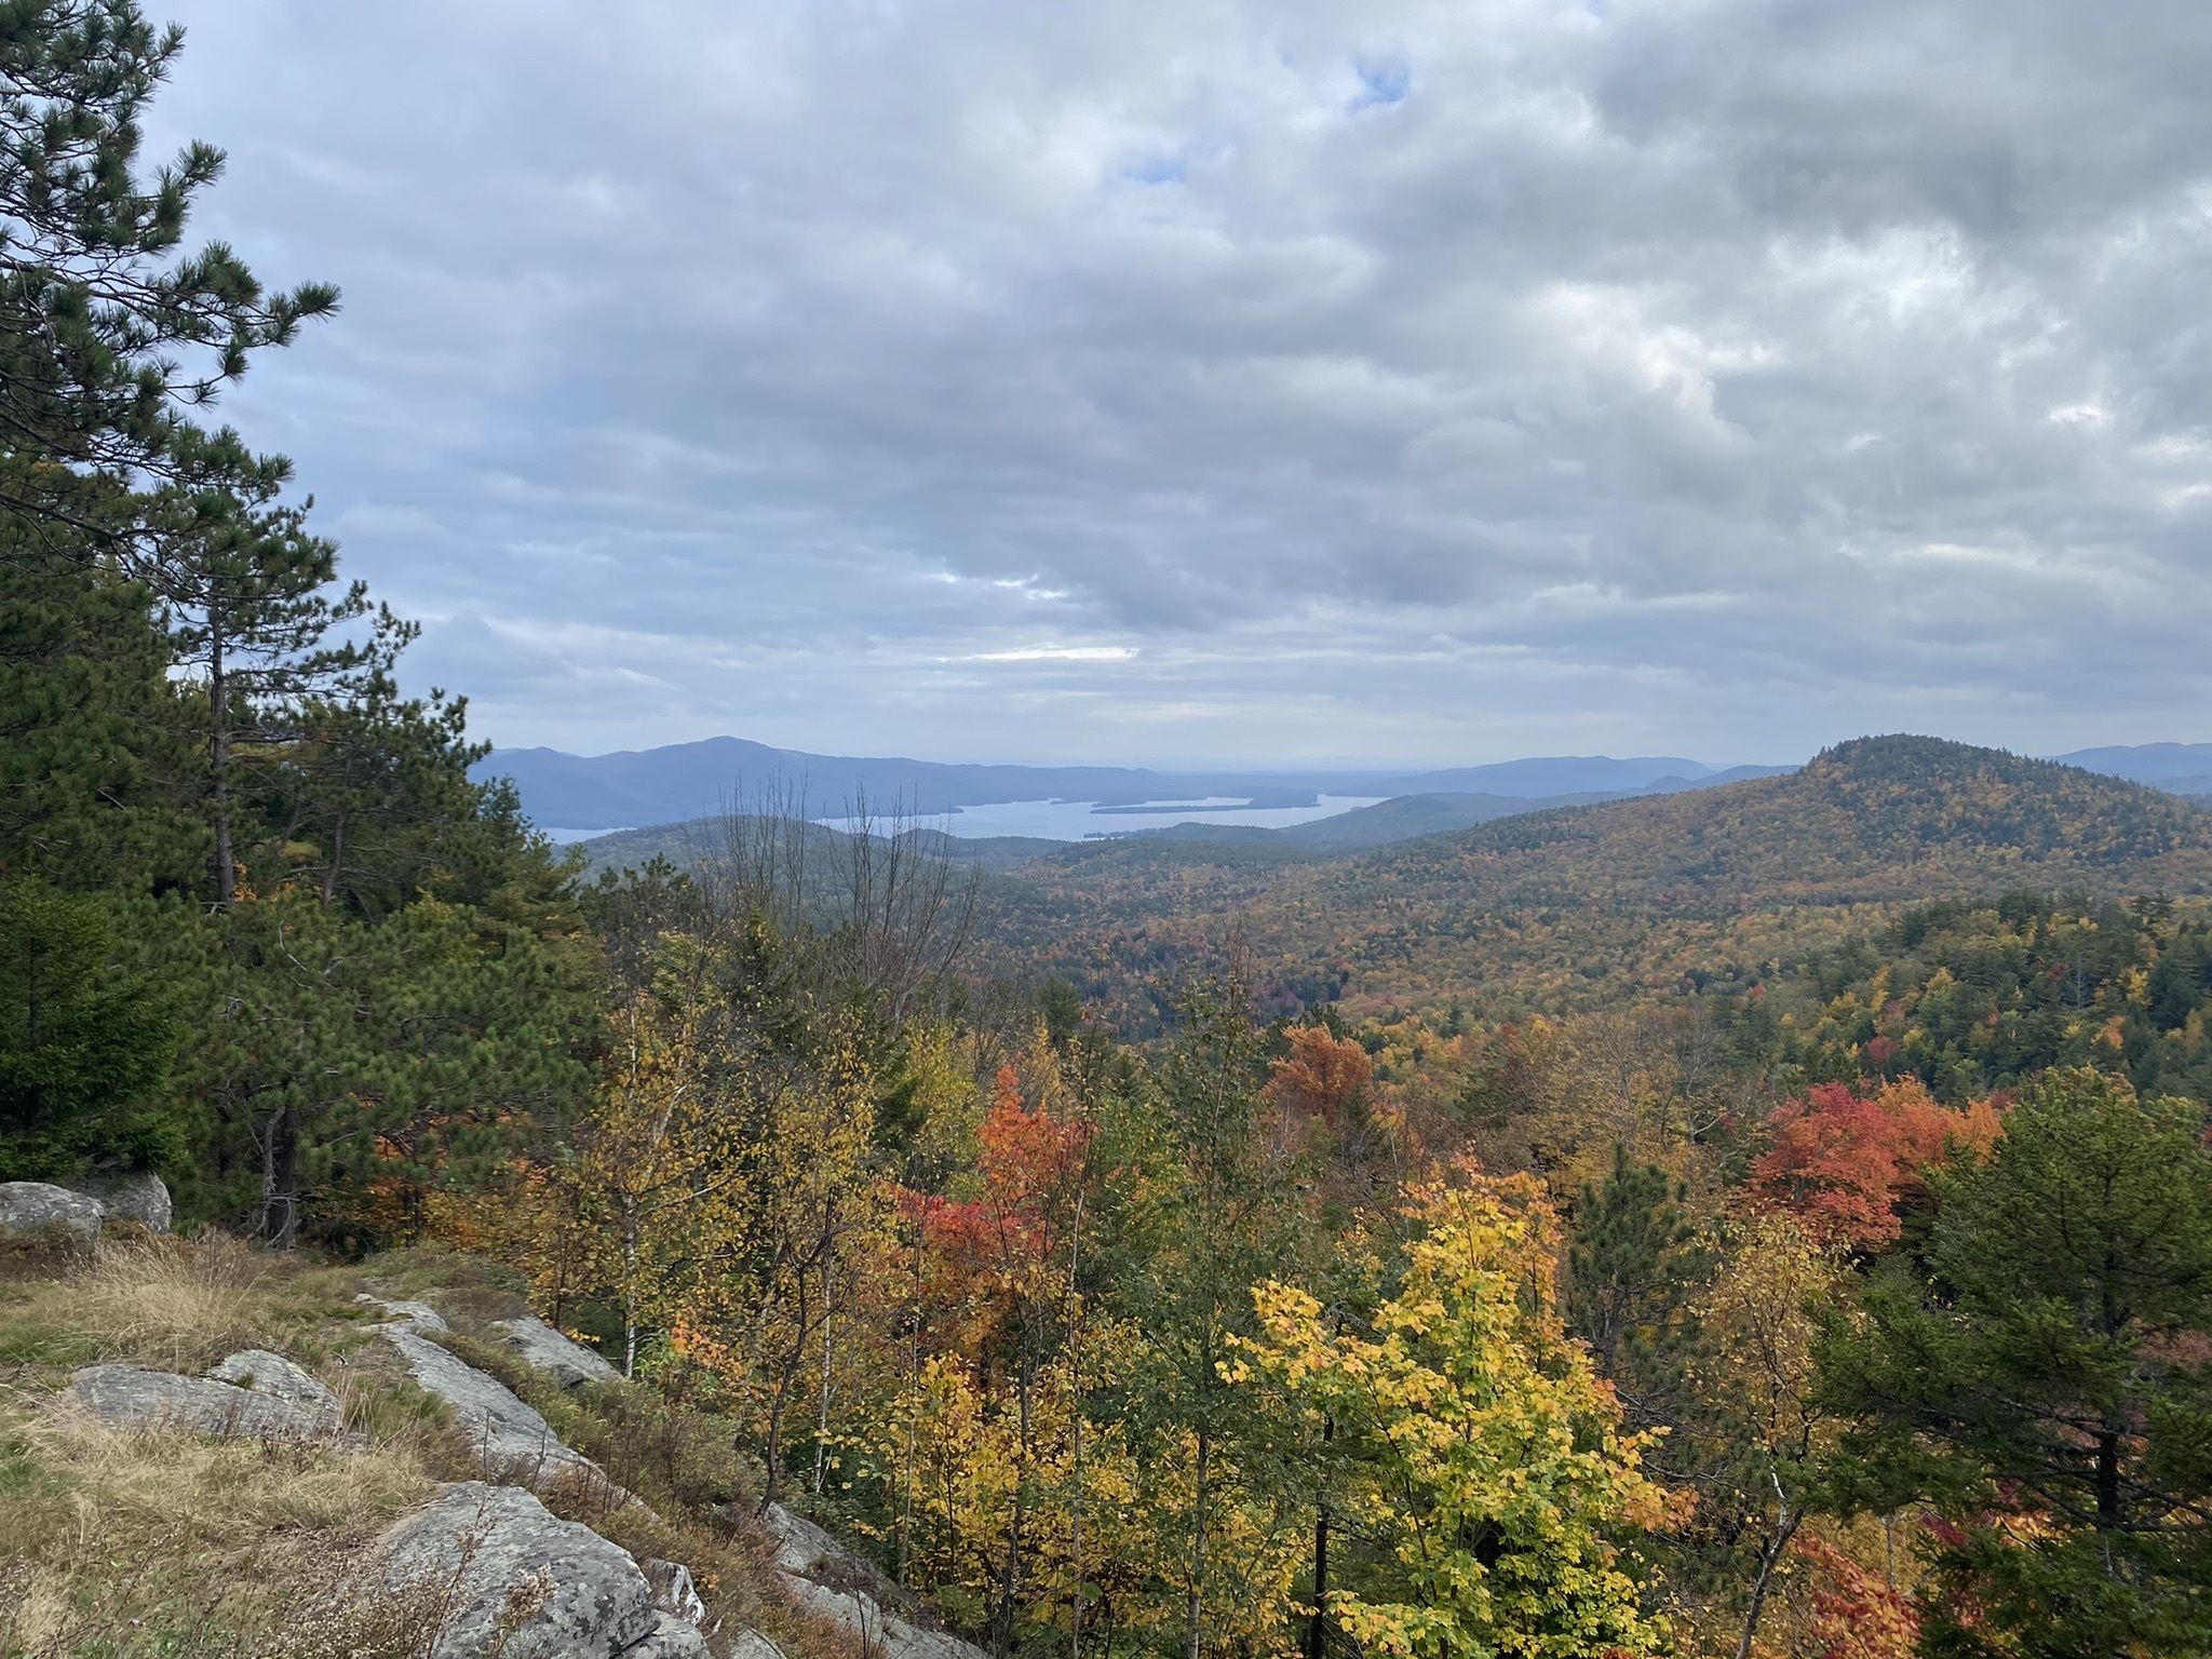
<path fill-rule="evenodd" d="M 993 885 L 989 931 L 1137 1022 L 1150 980 L 1219 945 L 1232 916 L 1285 1002 L 1511 1011 L 1672 989 L 1909 900 L 2015 887 L 2208 891 L 2212 814 L 2051 761 L 1874 737 L 1790 776 L 1354 858 L 1263 865 L 1183 843 L 1037 860 Z"/>

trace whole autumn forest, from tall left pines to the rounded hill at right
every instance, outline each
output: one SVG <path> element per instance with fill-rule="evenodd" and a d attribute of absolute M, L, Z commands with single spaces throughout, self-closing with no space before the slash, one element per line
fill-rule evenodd
<path fill-rule="evenodd" d="M 998 1659 L 2212 1652 L 2201 805 L 1876 737 L 1374 849 L 759 801 L 586 874 L 217 422 L 347 325 L 190 241 L 175 51 L 0 7 L 0 1181 L 467 1263 L 681 1429 L 633 1486 Z"/>

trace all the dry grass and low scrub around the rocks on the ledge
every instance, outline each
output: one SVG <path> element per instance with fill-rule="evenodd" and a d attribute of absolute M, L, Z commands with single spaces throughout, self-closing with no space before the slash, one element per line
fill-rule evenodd
<path fill-rule="evenodd" d="M 20 1263 L 18 1263 L 20 1265 Z M 799 1615 L 750 1524 L 757 1471 L 734 1427 L 650 1389 L 568 1396 L 484 1340 L 522 1310 L 495 1263 L 414 1250 L 367 1265 L 268 1254 L 230 1239 L 102 1243 L 40 1276 L 0 1274 L 0 1657 L 425 1659 L 451 1586 L 365 1588 L 372 1540 L 440 1480 L 480 1475 L 451 1413 L 369 1336 L 361 1290 L 429 1296 L 449 1345 L 538 1405 L 644 1504 L 595 1482 L 546 1491 L 641 1555 L 686 1562 L 730 1630 L 792 1659 L 849 1659 L 852 1639 Z M 53 1405 L 73 1365 L 201 1371 L 272 1347 L 319 1371 L 361 1442 L 261 1447 L 119 1433 Z"/>

